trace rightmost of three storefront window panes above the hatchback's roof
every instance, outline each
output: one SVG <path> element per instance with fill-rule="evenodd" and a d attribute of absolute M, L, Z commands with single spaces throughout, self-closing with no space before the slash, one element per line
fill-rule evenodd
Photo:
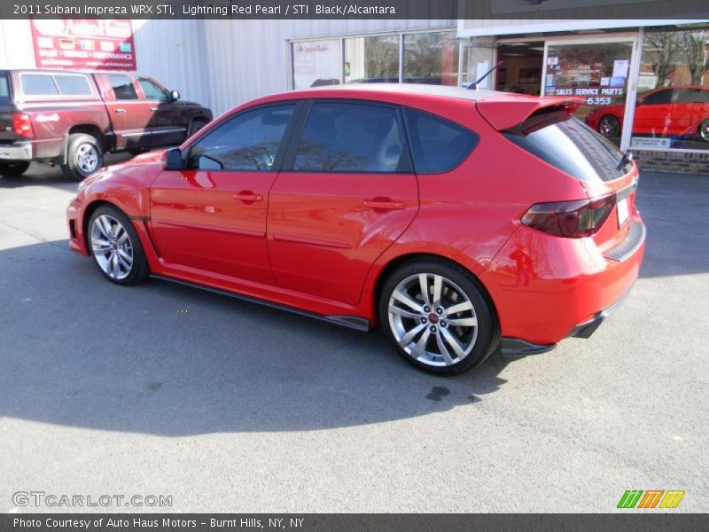
<path fill-rule="evenodd" d="M 426 32 L 404 35 L 405 83 L 458 84 L 456 32 Z"/>

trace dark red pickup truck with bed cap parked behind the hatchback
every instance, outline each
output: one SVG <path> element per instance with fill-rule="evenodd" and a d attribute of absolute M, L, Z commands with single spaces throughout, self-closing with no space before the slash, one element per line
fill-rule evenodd
<path fill-rule="evenodd" d="M 82 180 L 104 153 L 180 144 L 212 112 L 179 98 L 139 74 L 0 70 L 0 176 L 41 160 Z"/>

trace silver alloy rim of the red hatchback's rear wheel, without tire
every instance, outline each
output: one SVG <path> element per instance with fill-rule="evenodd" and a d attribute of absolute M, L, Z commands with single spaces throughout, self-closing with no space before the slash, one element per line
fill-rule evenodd
<path fill-rule="evenodd" d="M 389 326 L 401 348 L 421 364 L 446 367 L 470 355 L 478 339 L 471 299 L 456 283 L 433 273 L 405 278 L 393 290 Z"/>

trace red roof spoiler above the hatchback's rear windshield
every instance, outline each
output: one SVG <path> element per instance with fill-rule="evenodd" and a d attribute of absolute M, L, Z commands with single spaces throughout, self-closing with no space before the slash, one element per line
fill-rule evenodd
<path fill-rule="evenodd" d="M 489 124 L 502 131 L 518 126 L 534 114 L 562 112 L 571 115 L 581 104 L 581 97 L 520 96 L 500 94 L 479 100 L 475 105 Z"/>

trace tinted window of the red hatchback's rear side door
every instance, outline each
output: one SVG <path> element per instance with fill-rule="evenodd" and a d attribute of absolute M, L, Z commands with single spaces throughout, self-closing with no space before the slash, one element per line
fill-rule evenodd
<path fill-rule="evenodd" d="M 409 171 L 399 111 L 394 106 L 315 102 L 293 170 L 302 172 Z"/>

